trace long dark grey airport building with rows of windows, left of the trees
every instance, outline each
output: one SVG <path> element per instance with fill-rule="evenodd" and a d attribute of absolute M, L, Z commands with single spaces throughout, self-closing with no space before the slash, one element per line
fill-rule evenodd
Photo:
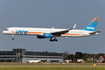
<path fill-rule="evenodd" d="M 22 62 L 28 60 L 41 60 L 41 62 L 63 62 L 64 53 L 35 52 L 26 49 L 13 49 L 13 51 L 0 51 L 0 62 Z"/>

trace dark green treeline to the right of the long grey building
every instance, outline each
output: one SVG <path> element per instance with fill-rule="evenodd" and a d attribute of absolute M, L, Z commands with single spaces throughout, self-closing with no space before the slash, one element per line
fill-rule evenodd
<path fill-rule="evenodd" d="M 89 57 L 93 57 L 93 60 L 99 59 L 100 56 L 103 56 L 105 58 L 104 53 L 99 54 L 88 54 L 88 53 L 82 53 L 82 52 L 76 52 L 75 54 L 68 54 L 65 52 L 66 58 L 65 60 L 72 60 L 72 62 L 76 62 L 77 59 L 83 59 L 84 61 L 87 61 Z"/>

